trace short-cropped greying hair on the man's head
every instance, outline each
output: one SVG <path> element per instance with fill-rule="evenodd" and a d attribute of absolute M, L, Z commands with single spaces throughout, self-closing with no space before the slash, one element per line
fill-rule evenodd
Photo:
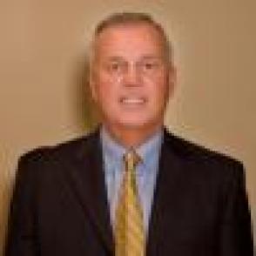
<path fill-rule="evenodd" d="M 150 24 L 153 28 L 158 30 L 163 39 L 166 61 L 168 64 L 172 65 L 173 52 L 171 41 L 167 37 L 162 25 L 159 24 L 151 15 L 144 12 L 117 12 L 111 14 L 110 16 L 104 18 L 104 20 L 98 23 L 97 27 L 94 30 L 94 40 L 98 37 L 100 33 L 102 33 L 107 28 L 129 24 Z"/>

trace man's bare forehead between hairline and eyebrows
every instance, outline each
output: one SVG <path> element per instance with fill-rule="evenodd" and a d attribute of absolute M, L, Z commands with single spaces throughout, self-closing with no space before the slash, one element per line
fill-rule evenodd
<path fill-rule="evenodd" d="M 152 24 L 118 24 L 101 31 L 94 42 L 96 56 L 164 54 L 164 37 Z"/>

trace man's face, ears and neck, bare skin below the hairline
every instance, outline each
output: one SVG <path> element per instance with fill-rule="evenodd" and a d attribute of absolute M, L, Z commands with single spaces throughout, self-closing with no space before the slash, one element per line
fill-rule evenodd
<path fill-rule="evenodd" d="M 151 24 L 122 24 L 96 38 L 90 85 L 105 129 L 135 147 L 164 122 L 175 70 L 166 61 L 163 39 Z"/>

